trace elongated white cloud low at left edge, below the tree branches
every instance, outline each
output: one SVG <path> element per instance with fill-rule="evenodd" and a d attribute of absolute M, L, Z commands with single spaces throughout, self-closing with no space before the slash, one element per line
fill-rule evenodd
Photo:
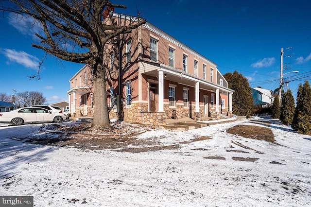
<path fill-rule="evenodd" d="M 24 51 L 16 51 L 6 48 L 0 52 L 3 53 L 11 62 L 16 62 L 26 68 L 37 69 L 40 65 L 40 60 L 37 57 Z"/>

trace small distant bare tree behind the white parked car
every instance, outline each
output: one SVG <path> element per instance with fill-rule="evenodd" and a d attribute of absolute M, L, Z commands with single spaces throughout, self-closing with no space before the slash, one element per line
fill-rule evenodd
<path fill-rule="evenodd" d="M 25 91 L 17 93 L 16 100 L 21 106 L 41 105 L 46 102 L 46 98 L 41 92 Z"/>

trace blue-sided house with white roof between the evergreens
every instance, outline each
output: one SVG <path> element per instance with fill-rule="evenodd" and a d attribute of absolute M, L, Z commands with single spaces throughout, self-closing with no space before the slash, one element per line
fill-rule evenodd
<path fill-rule="evenodd" d="M 252 96 L 254 99 L 254 105 L 261 104 L 262 107 L 272 105 L 275 100 L 271 90 L 263 89 L 260 87 L 252 88 Z"/>

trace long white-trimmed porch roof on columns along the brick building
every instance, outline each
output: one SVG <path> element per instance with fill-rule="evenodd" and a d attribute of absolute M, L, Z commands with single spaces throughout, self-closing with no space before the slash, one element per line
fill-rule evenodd
<path fill-rule="evenodd" d="M 230 88 L 226 88 L 224 86 L 220 86 L 218 84 L 212 83 L 210 81 L 207 81 L 206 79 L 184 72 L 180 69 L 175 69 L 173 67 L 170 67 L 164 64 L 140 61 L 139 72 L 141 74 L 146 74 L 146 75 L 157 78 L 158 71 L 164 72 L 165 80 L 170 80 L 181 85 L 195 88 L 195 83 L 199 82 L 200 88 L 207 90 L 207 91 L 215 91 L 216 89 L 219 89 L 220 93 L 221 92 L 229 92 L 229 93 L 234 92 L 234 90 Z"/>

